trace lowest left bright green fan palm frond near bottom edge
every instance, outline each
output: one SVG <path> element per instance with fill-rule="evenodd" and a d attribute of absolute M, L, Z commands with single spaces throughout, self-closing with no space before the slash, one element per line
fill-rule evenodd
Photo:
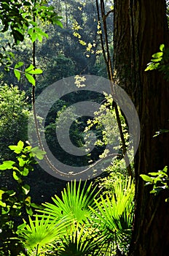
<path fill-rule="evenodd" d="M 53 241 L 60 240 L 60 236 L 66 234 L 66 227 L 70 222 L 70 216 L 63 217 L 59 221 L 58 219 L 51 221 L 50 216 L 46 218 L 43 215 L 40 218 L 36 215 L 34 220 L 29 216 L 29 223 L 24 220 L 24 223 L 18 227 L 17 235 L 29 252 L 40 255 L 40 252 L 45 252 Z"/>

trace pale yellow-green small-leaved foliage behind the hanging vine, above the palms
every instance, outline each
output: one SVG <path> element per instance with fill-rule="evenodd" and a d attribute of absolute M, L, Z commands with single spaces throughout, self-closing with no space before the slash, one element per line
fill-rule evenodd
<path fill-rule="evenodd" d="M 99 154 L 100 159 L 103 159 L 103 161 L 106 160 L 105 157 L 112 159 L 111 166 L 106 169 L 107 173 L 110 172 L 110 169 L 112 172 L 117 172 L 117 169 L 120 168 L 122 168 L 122 170 L 119 170 L 119 172 L 122 173 L 124 168 L 117 167 L 117 165 L 119 165 L 119 160 L 122 158 L 122 142 L 120 139 L 119 127 L 117 125 L 117 117 L 113 106 L 112 96 L 105 94 L 105 98 L 101 103 L 102 104 L 99 110 L 95 111 L 94 118 L 89 118 L 87 120 L 87 127 L 85 127 L 84 132 L 88 132 L 93 129 L 93 127 L 95 127 L 95 129 L 102 135 L 99 136 L 98 133 L 97 139 L 94 142 L 95 146 L 102 147 L 103 149 L 102 151 L 99 151 L 101 152 Z M 128 146 L 129 135 L 127 131 L 127 125 L 125 124 L 125 118 L 122 116 L 122 114 L 120 114 L 119 118 L 122 124 L 122 132 L 124 134 L 125 143 Z M 89 147 L 90 144 L 93 144 L 93 141 L 90 139 L 90 134 L 85 135 L 85 140 L 87 147 Z M 132 150 L 130 151 L 130 155 L 133 155 Z M 93 156 L 91 154 L 89 154 L 89 156 L 90 161 L 93 160 Z"/>

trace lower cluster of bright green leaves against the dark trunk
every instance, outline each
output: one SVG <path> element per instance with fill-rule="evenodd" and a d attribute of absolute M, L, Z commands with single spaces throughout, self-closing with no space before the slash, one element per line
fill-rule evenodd
<path fill-rule="evenodd" d="M 169 189 L 168 187 L 168 167 L 165 166 L 163 170 L 158 170 L 157 172 L 141 174 L 141 178 L 143 178 L 144 181 L 146 181 L 147 185 L 153 185 L 153 189 L 150 191 L 150 193 L 153 193 L 154 195 L 158 195 L 160 191 L 163 191 L 164 189 Z M 167 198 L 165 201 L 168 202 L 169 198 Z"/>

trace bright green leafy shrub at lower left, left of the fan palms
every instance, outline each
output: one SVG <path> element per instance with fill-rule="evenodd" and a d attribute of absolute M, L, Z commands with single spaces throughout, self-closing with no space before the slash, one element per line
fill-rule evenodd
<path fill-rule="evenodd" d="M 25 184 L 24 177 L 34 170 L 34 164 L 36 164 L 34 157 L 42 159 L 44 152 L 40 151 L 39 148 L 32 148 L 30 145 L 24 146 L 21 140 L 17 143 L 17 146 L 9 146 L 9 148 L 17 154 L 17 161 L 4 161 L 0 165 L 0 175 L 4 171 L 12 170 L 15 189 L 2 187 L 0 190 L 0 247 L 5 255 L 9 255 L 9 252 L 14 255 L 16 246 L 20 250 L 23 249 L 16 236 L 20 217 L 24 212 L 32 215 L 32 207 L 38 207 L 35 203 L 31 203 L 31 197 L 28 195 L 30 186 Z"/>

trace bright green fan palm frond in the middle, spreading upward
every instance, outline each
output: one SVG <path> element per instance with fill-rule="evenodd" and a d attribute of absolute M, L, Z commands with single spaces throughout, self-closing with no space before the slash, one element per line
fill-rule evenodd
<path fill-rule="evenodd" d="M 51 219 L 61 219 L 71 214 L 73 222 L 82 224 L 93 213 L 89 206 L 96 207 L 98 192 L 95 189 L 92 183 L 87 187 L 85 182 L 82 187 L 81 181 L 78 186 L 76 181 L 71 181 L 71 184 L 68 183 L 66 189 L 63 189 L 61 199 L 55 195 L 55 198 L 52 197 L 53 203 L 43 203 L 44 209 L 38 211 L 50 215 Z"/>

